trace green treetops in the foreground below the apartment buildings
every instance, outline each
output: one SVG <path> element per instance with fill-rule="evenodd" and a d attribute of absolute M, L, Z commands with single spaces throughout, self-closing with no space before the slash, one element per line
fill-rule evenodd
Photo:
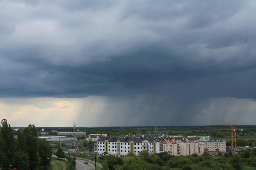
<path fill-rule="evenodd" d="M 100 156 L 104 170 L 255 170 L 256 149 L 244 150 L 238 154 L 231 151 L 224 155 L 171 156 L 167 152 L 149 154 L 142 151 L 138 156 L 128 153 L 123 159 L 114 155 Z"/>

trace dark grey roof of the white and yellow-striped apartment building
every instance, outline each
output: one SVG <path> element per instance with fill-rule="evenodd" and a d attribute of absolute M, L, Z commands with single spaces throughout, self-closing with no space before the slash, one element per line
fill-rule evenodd
<path fill-rule="evenodd" d="M 100 139 L 98 139 L 98 142 L 104 142 L 105 140 L 108 140 L 108 142 L 116 142 L 116 141 L 120 141 L 120 142 L 130 142 L 130 141 L 134 141 L 134 143 L 141 143 L 143 141 L 149 141 L 149 142 L 159 142 L 158 140 L 155 140 L 154 138 L 134 138 L 134 137 L 101 137 Z"/>

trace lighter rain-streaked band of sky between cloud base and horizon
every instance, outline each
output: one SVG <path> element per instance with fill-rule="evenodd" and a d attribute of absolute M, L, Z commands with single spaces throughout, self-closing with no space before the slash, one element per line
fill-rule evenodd
<path fill-rule="evenodd" d="M 238 123 L 252 125 L 256 119 L 256 102 L 250 99 L 211 98 L 202 105 L 190 106 L 187 111 L 194 113 L 179 117 L 180 108 L 169 106 L 158 113 L 147 96 L 136 96 L 122 100 L 108 97 L 89 96 L 87 98 L 1 98 L 1 117 L 13 127 L 25 127 L 34 124 L 37 127 L 69 127 L 76 122 L 80 127 L 100 126 L 146 126 L 146 125 L 207 125 L 207 122 L 230 122 L 236 117 Z M 133 100 L 133 105 L 130 103 Z M 169 100 L 170 101 L 170 100 Z M 165 104 L 163 104 L 166 106 Z M 110 108 L 111 107 L 111 108 Z M 161 106 L 162 107 L 162 106 Z M 123 112 L 130 111 L 124 116 Z M 168 114 L 168 111 L 172 112 Z M 173 114 L 174 113 L 174 114 Z M 246 113 L 246 114 L 244 114 Z M 152 117 L 160 119 L 152 120 Z M 184 119 L 177 123 L 173 117 Z M 222 117 L 221 121 L 219 117 Z M 126 121 L 129 119 L 129 121 Z M 163 121 L 163 119 L 169 119 Z M 132 122 L 132 123 L 131 123 Z"/>

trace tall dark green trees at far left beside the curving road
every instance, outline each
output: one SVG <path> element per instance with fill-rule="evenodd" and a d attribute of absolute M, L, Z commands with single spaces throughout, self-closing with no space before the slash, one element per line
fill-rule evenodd
<path fill-rule="evenodd" d="M 52 150 L 47 141 L 38 139 L 34 125 L 28 125 L 17 131 L 13 130 L 6 119 L 0 126 L 0 169 L 17 168 L 19 170 L 46 168 L 52 158 Z"/>

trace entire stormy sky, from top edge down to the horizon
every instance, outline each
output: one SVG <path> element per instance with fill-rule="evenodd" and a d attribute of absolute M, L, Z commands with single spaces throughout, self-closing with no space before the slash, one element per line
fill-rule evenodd
<path fill-rule="evenodd" d="M 0 0 L 12 127 L 256 120 L 255 0 Z"/>

